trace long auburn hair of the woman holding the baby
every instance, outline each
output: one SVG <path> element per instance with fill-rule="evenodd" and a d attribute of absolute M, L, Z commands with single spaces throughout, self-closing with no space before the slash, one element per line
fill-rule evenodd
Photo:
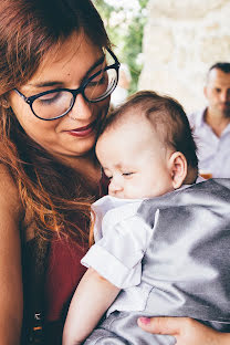
<path fill-rule="evenodd" d="M 8 107 L 8 93 L 27 83 L 50 48 L 61 46 L 73 32 L 84 33 L 100 48 L 109 46 L 91 0 L 1 0 L 0 163 L 17 184 L 24 219 L 32 220 L 38 238 L 64 234 L 84 243 L 94 199 L 91 188 L 83 176 L 32 140 Z"/>

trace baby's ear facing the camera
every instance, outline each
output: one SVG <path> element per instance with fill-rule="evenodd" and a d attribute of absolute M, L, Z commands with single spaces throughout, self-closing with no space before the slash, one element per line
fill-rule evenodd
<path fill-rule="evenodd" d="M 187 176 L 187 159 L 180 151 L 171 154 L 169 158 L 170 174 L 174 189 L 181 187 Z"/>

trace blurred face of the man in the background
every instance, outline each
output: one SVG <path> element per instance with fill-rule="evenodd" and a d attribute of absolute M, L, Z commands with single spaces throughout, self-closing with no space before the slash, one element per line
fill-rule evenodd
<path fill-rule="evenodd" d="M 208 75 L 205 95 L 211 114 L 230 117 L 230 73 L 213 69 Z"/>

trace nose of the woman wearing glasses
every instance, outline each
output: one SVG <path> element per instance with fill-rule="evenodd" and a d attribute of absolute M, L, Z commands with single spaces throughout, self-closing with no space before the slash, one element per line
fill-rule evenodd
<path fill-rule="evenodd" d="M 73 119 L 87 119 L 92 117 L 92 104 L 85 101 L 83 95 L 79 94 L 69 116 Z"/>

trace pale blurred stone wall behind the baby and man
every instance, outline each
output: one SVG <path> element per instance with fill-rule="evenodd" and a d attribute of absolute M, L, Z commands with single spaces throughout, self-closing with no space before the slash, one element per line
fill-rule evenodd
<path fill-rule="evenodd" d="M 205 106 L 210 65 L 230 62 L 230 0 L 149 0 L 139 90 L 177 98 L 187 112 Z"/>

